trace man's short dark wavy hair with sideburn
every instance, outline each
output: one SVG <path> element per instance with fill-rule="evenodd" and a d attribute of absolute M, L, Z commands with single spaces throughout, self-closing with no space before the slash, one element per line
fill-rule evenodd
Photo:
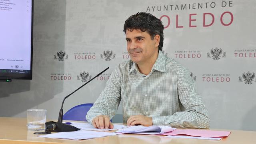
<path fill-rule="evenodd" d="M 132 32 L 134 29 L 139 29 L 142 32 L 148 32 L 152 40 L 156 34 L 159 34 L 160 42 L 158 50 L 162 50 L 164 45 L 164 25 L 162 24 L 161 20 L 152 14 L 146 12 L 138 12 L 137 14 L 130 16 L 124 22 L 124 33 L 126 33 L 126 30 Z"/>

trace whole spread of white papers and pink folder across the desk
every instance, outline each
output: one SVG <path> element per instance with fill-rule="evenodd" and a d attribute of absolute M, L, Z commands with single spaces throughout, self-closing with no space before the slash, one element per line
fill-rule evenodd
<path fill-rule="evenodd" d="M 228 136 L 230 132 L 215 131 L 215 130 L 200 130 L 200 129 L 176 129 L 171 126 L 124 126 L 114 124 L 114 129 L 98 129 L 88 123 L 66 122 L 80 128 L 75 132 L 59 132 L 54 134 L 43 135 L 44 138 L 66 138 L 72 140 L 84 140 L 90 138 L 99 138 L 104 136 L 114 136 L 117 134 L 149 134 L 149 135 L 166 135 L 172 138 L 196 138 L 205 140 L 221 140 Z M 96 130 L 96 131 L 91 131 Z M 108 130 L 118 130 L 114 132 L 99 132 Z"/>

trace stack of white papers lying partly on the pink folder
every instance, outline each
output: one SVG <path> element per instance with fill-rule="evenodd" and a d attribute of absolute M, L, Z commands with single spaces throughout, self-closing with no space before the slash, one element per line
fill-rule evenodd
<path fill-rule="evenodd" d="M 165 134 L 166 132 L 171 132 L 176 128 L 170 126 L 130 126 L 128 128 L 123 128 L 122 130 L 116 131 L 116 133 L 125 134 Z"/>

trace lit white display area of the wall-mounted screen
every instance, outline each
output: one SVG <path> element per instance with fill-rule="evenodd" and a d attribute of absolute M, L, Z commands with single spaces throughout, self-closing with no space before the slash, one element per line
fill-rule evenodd
<path fill-rule="evenodd" d="M 0 69 L 30 70 L 31 0 L 0 0 Z"/>

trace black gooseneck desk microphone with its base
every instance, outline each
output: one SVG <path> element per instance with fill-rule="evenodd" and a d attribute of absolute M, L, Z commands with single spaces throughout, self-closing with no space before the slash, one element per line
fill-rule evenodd
<path fill-rule="evenodd" d="M 96 76 L 94 76 L 94 78 L 100 76 L 103 72 L 105 72 L 106 70 L 108 70 L 108 68 L 106 68 L 105 70 L 103 70 L 102 72 L 100 72 L 99 74 L 97 74 Z M 82 86 L 80 86 L 78 89 L 76 89 L 74 92 L 78 91 L 80 88 L 82 88 L 83 86 L 85 86 L 86 84 L 88 84 L 90 81 L 92 81 L 94 78 L 90 79 L 88 82 L 86 82 L 85 84 L 83 84 Z M 50 121 L 50 122 L 46 122 L 45 125 L 46 125 L 46 129 L 45 129 L 45 132 L 48 131 L 48 132 L 72 132 L 72 131 L 76 131 L 76 130 L 80 130 L 79 128 L 76 128 L 74 126 L 71 126 L 69 124 L 64 124 L 62 123 L 62 120 L 63 120 L 63 104 L 64 104 L 64 101 L 66 100 L 66 98 L 68 98 L 69 96 L 71 96 L 72 94 L 74 94 L 74 92 L 72 92 L 71 94 L 69 94 L 68 96 L 66 96 L 64 98 L 64 100 L 62 101 L 62 105 L 61 105 L 61 108 L 60 108 L 60 112 L 59 112 L 59 117 L 58 117 L 58 122 L 53 122 L 53 121 Z M 36 133 L 35 133 L 36 134 Z M 41 133 L 42 134 L 42 133 Z M 44 133 L 46 134 L 46 133 Z"/>

